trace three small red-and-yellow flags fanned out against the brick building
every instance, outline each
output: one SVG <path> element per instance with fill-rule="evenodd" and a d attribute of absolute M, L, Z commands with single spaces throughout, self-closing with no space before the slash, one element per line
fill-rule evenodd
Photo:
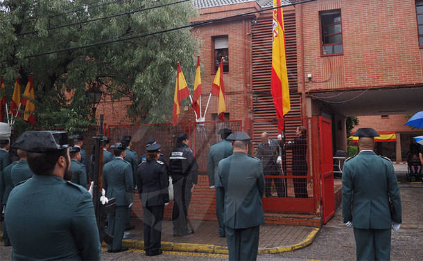
<path fill-rule="evenodd" d="M 194 91 L 193 96 L 189 93 L 188 84 L 185 80 L 184 73 L 180 63 L 178 62 L 178 71 L 176 73 L 176 83 L 175 83 L 175 94 L 173 96 L 173 113 L 172 113 L 172 124 L 176 125 L 178 123 L 178 117 L 180 114 L 180 103 L 184 98 L 190 98 L 191 107 L 193 108 L 194 114 L 196 114 L 197 121 L 204 121 L 204 116 L 207 113 L 207 108 L 209 107 L 210 98 L 214 94 L 218 98 L 218 118 L 225 120 L 225 84 L 223 84 L 223 59 L 219 68 L 214 77 L 212 84 L 212 89 L 210 90 L 209 100 L 207 100 L 207 105 L 204 111 L 204 114 L 201 114 L 201 70 L 200 70 L 200 56 L 197 57 L 197 69 L 196 69 L 196 78 L 194 80 Z"/>

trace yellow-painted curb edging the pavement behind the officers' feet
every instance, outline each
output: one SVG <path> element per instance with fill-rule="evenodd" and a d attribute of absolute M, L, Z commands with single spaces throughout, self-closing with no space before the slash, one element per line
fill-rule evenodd
<path fill-rule="evenodd" d="M 320 228 L 313 228 L 313 231 L 307 235 L 306 239 L 297 244 L 290 246 L 280 246 L 268 249 L 259 249 L 259 255 L 263 254 L 275 254 L 293 251 L 295 249 L 302 249 L 311 244 L 316 237 Z M 107 246 L 102 244 L 102 246 Z M 144 240 L 123 240 L 122 246 L 130 249 L 144 250 Z M 193 253 L 209 253 L 209 254 L 228 254 L 227 246 L 215 245 L 215 244 L 195 244 L 195 243 L 173 243 L 162 241 L 163 251 L 180 251 L 180 252 L 193 252 Z"/>

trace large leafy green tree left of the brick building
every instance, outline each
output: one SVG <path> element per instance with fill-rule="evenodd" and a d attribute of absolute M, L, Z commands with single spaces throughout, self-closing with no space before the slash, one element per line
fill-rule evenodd
<path fill-rule="evenodd" d="M 128 116 L 134 122 L 169 121 L 177 62 L 181 62 L 185 75 L 193 75 L 195 71 L 195 53 L 200 43 L 191 35 L 191 28 L 90 48 L 28 56 L 175 28 L 189 24 L 189 17 L 197 15 L 196 8 L 187 1 L 49 29 L 171 2 L 1 1 L 0 73 L 5 76 L 6 95 L 11 98 L 12 86 L 18 75 L 23 92 L 24 84 L 33 73 L 36 128 L 66 127 L 75 130 L 94 123 L 87 117 L 92 105 L 86 90 L 96 83 L 101 84 L 102 90 L 112 100 L 129 98 L 132 101 Z M 16 127 L 22 128 L 20 131 L 28 128 L 19 121 Z"/>

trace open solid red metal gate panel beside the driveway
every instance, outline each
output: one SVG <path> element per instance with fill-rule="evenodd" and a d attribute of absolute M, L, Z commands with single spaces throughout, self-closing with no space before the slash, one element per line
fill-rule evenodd
<path fill-rule="evenodd" d="M 331 120 L 319 117 L 319 138 L 320 174 L 322 175 L 322 222 L 326 224 L 335 213 Z"/>

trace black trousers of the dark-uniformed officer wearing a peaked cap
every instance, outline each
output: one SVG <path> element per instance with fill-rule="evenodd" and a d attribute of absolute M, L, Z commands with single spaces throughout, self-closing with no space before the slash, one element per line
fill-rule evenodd
<path fill-rule="evenodd" d="M 158 253 L 162 242 L 162 221 L 164 205 L 146 206 L 144 211 L 144 250 L 148 253 Z"/>

